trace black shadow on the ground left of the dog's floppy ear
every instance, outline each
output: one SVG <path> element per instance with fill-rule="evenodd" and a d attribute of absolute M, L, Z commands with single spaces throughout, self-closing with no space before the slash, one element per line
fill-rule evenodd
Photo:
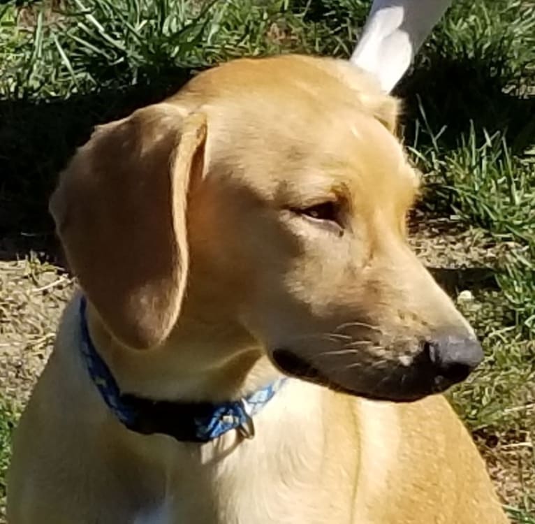
<path fill-rule="evenodd" d="M 57 260 L 47 202 L 75 148 L 96 124 L 160 101 L 188 78 L 186 71 L 175 71 L 147 85 L 68 99 L 0 101 L 0 260 L 30 251 Z"/>

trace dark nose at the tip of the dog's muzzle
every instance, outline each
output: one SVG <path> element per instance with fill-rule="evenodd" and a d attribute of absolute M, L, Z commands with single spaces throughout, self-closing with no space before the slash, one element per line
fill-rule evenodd
<path fill-rule="evenodd" d="M 481 344 L 459 335 L 434 337 L 425 342 L 425 351 L 437 374 L 452 383 L 466 379 L 483 360 Z"/>

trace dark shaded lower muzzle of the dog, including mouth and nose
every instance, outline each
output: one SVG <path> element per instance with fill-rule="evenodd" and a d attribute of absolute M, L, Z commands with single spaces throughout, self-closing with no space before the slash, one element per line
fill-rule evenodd
<path fill-rule="evenodd" d="M 474 337 L 444 333 L 418 342 L 418 351 L 410 357 L 397 357 L 395 350 L 389 358 L 379 358 L 365 351 L 314 354 L 279 347 L 271 358 L 292 377 L 372 400 L 410 402 L 466 379 L 483 360 L 483 350 Z"/>

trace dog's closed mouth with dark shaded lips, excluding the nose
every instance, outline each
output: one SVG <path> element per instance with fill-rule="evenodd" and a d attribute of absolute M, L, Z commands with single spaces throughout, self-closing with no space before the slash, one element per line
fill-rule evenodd
<path fill-rule="evenodd" d="M 413 402 L 443 393 L 460 379 L 437 375 L 423 356 L 409 366 L 388 363 L 362 367 L 328 366 L 325 370 L 290 349 L 271 352 L 274 365 L 284 374 L 369 400 Z M 356 371 L 358 370 L 358 371 Z"/>

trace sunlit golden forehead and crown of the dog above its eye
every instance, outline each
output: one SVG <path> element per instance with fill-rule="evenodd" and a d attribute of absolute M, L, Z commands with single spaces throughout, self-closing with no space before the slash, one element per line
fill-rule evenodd
<path fill-rule="evenodd" d="M 343 61 L 233 61 L 199 75 L 183 96 L 207 112 L 212 172 L 267 198 L 296 184 L 328 191 L 410 173 L 378 115 L 391 99 Z"/>

